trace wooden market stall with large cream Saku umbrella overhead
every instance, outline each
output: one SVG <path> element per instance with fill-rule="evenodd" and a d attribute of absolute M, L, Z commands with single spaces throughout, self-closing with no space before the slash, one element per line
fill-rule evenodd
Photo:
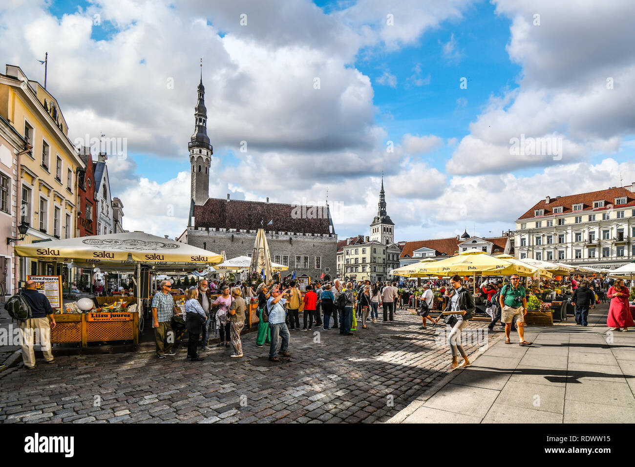
<path fill-rule="evenodd" d="M 135 297 L 122 297 L 116 302 L 114 297 L 98 297 L 104 301 L 90 305 L 81 304 L 81 299 L 77 306 L 55 308 L 55 320 L 60 324 L 51 331 L 51 342 L 81 342 L 83 346 L 91 341 L 138 342 L 138 329 L 143 322 L 142 299 L 150 294 L 149 271 L 191 271 L 222 261 L 221 255 L 213 252 L 142 232 L 18 245 L 15 252 L 42 261 L 74 262 L 79 267 L 86 264 L 100 271 L 134 271 Z M 142 274 L 142 267 L 148 274 Z M 125 300 L 130 298 L 136 303 L 130 305 L 131 301 Z M 104 309 L 108 300 L 112 303 Z"/>

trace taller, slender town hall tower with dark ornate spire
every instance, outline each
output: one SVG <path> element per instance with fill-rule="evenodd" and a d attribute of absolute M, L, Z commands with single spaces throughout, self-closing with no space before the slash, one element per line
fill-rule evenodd
<path fill-rule="evenodd" d="M 205 107 L 205 87 L 203 86 L 203 58 L 201 58 L 201 80 L 196 88 L 198 100 L 194 107 L 194 134 L 187 149 L 192 166 L 190 194 L 196 205 L 203 205 L 210 196 L 210 165 L 214 153 L 207 135 L 207 109 Z"/>

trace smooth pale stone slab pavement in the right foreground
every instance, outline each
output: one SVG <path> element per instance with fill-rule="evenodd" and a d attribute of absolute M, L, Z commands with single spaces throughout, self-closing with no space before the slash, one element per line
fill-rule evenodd
<path fill-rule="evenodd" d="M 607 312 L 587 327 L 529 327 L 525 351 L 490 346 L 389 423 L 632 423 L 635 334 L 611 335 Z"/>

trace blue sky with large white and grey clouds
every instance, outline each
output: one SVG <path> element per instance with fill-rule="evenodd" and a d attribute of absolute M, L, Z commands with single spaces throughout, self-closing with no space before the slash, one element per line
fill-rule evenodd
<path fill-rule="evenodd" d="M 0 57 L 42 82 L 48 51 L 70 139 L 126 141 L 126 229 L 187 225 L 202 57 L 210 196 L 328 190 L 343 238 L 383 173 L 396 240 L 422 240 L 635 182 L 633 24 L 632 0 L 8 0 Z"/>

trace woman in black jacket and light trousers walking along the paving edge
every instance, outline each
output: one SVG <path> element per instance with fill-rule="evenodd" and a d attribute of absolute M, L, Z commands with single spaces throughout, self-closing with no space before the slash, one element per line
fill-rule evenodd
<path fill-rule="evenodd" d="M 443 313 L 455 316 L 457 319 L 456 323 L 452 326 L 450 334 L 448 335 L 448 343 L 452 349 L 452 363 L 448 369 L 455 370 L 457 368 L 466 368 L 471 365 L 470 361 L 467 359 L 467 354 L 461 345 L 461 331 L 467 326 L 467 321 L 474 316 L 476 305 L 474 304 L 474 297 L 472 297 L 472 294 L 469 290 L 467 290 L 467 288 L 463 287 L 459 276 L 452 276 L 450 279 L 450 285 L 453 288 L 453 294 L 448 300 L 448 305 Z M 436 323 L 439 321 L 441 316 L 443 315 L 439 315 L 438 318 L 436 318 Z M 458 364 L 459 353 L 463 357 L 463 363 L 460 365 Z"/>

